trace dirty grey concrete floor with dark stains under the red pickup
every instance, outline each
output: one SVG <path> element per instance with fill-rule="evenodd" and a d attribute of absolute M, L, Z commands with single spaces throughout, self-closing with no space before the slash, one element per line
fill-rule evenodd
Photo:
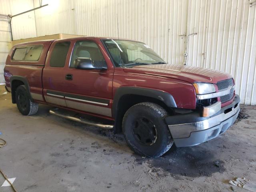
<path fill-rule="evenodd" d="M 22 116 L 3 92 L 1 86 L 0 138 L 7 145 L 0 169 L 16 177 L 18 192 L 228 192 L 235 176 L 256 181 L 255 106 L 242 106 L 250 117 L 218 138 L 153 159 L 134 154 L 122 136 L 50 115 L 49 106 Z"/>

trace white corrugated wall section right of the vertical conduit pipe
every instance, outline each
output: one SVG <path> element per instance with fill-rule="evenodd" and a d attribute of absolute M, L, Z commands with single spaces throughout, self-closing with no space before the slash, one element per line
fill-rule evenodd
<path fill-rule="evenodd" d="M 253 4 L 254 0 L 191 0 L 188 33 L 198 35 L 190 39 L 188 65 L 232 74 L 241 102 L 256 105 Z"/>

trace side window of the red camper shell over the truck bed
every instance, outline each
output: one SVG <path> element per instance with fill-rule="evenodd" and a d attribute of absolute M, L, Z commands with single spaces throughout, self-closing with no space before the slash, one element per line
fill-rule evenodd
<path fill-rule="evenodd" d="M 14 49 L 14 61 L 38 61 L 43 50 L 42 45 L 22 46 Z"/>

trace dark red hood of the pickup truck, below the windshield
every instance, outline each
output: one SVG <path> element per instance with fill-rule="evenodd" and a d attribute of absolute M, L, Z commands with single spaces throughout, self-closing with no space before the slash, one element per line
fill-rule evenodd
<path fill-rule="evenodd" d="M 186 82 L 217 83 L 218 81 L 232 78 L 230 74 L 201 67 L 184 66 L 180 64 L 153 64 L 124 68 L 124 72 L 148 74 L 154 76 L 169 77 Z"/>

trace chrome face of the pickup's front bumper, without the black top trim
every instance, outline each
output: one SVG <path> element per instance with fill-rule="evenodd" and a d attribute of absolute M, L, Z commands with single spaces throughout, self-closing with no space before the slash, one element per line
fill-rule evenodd
<path fill-rule="evenodd" d="M 215 138 L 234 124 L 240 111 L 239 103 L 206 120 L 168 125 L 177 147 L 194 146 Z"/>

